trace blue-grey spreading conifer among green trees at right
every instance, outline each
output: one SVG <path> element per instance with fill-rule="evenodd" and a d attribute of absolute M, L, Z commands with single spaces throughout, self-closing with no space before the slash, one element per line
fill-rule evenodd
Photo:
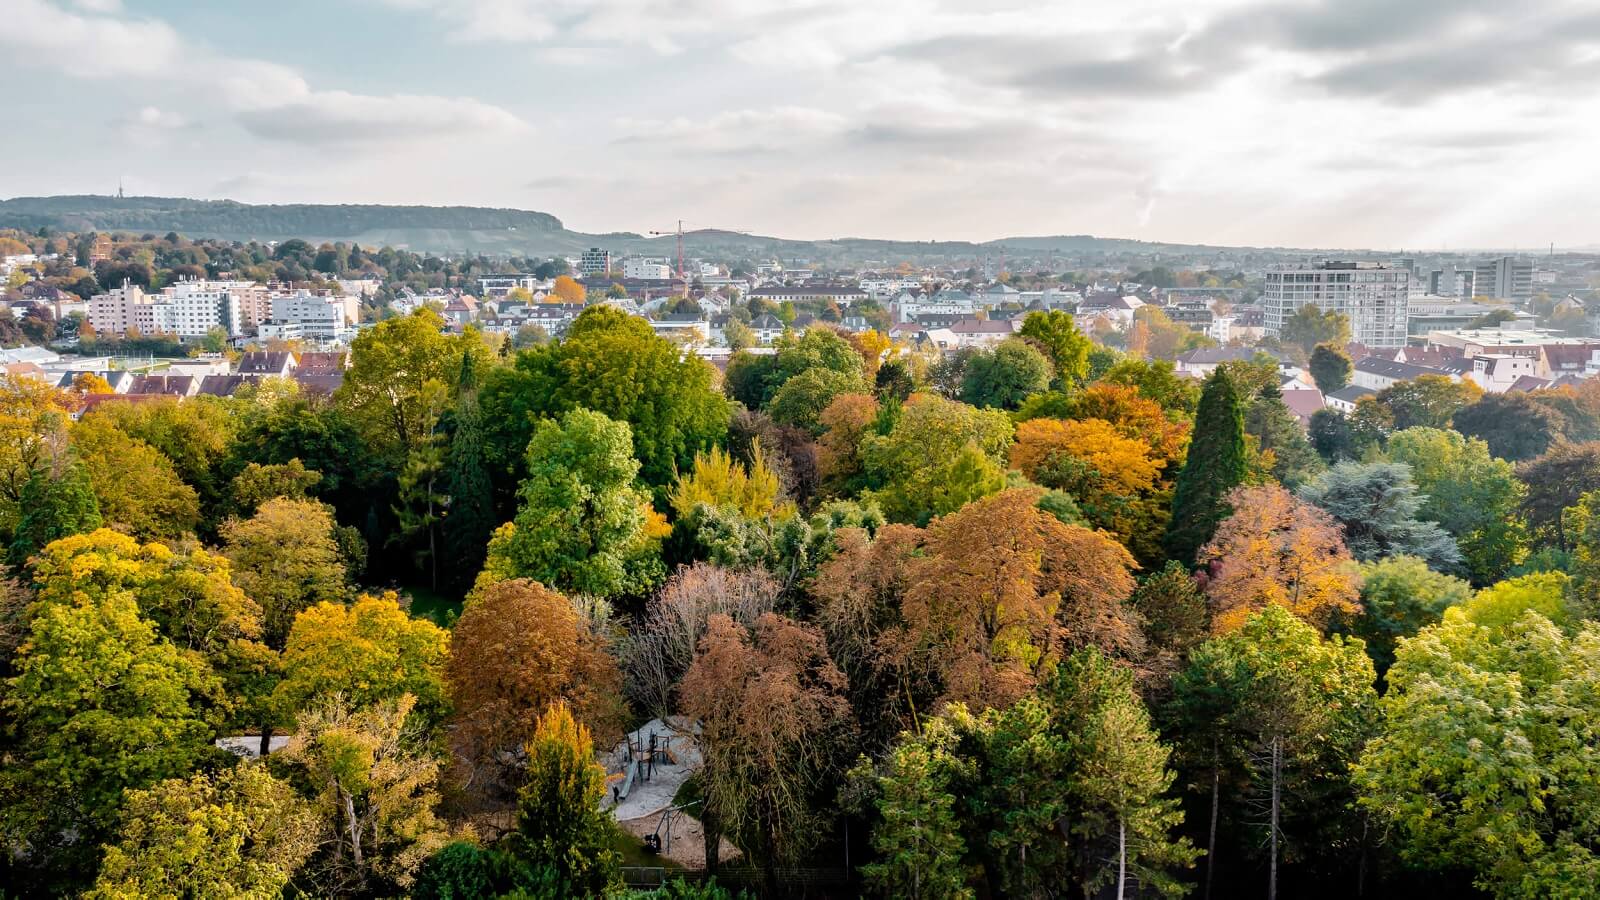
<path fill-rule="evenodd" d="M 1302 487 L 1299 496 L 1344 527 L 1344 543 L 1362 562 L 1408 554 L 1438 570 L 1461 565 L 1456 541 L 1438 524 L 1418 519 L 1422 498 L 1405 464 L 1339 463 Z"/>

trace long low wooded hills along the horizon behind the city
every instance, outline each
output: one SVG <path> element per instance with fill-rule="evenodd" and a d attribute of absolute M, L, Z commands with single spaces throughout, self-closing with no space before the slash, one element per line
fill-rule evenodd
<path fill-rule="evenodd" d="M 342 240 L 362 247 L 402 247 L 422 253 L 488 253 L 554 256 L 605 247 L 613 253 L 670 256 L 672 237 L 630 232 L 582 234 L 568 231 L 549 213 L 488 207 L 384 207 L 349 203 L 254 205 L 235 200 L 179 197 L 16 197 L 0 200 L 0 227 L 35 231 L 109 231 L 166 234 L 224 240 Z M 778 256 L 813 263 L 976 263 L 986 255 L 1062 253 L 1072 256 L 1162 256 L 1240 253 L 1221 247 L 1147 243 L 1093 235 L 1008 237 L 986 243 L 963 240 L 789 240 L 728 231 L 683 235 L 685 251 L 715 259 Z M 1248 253 L 1248 250 L 1245 251 Z M 1278 251 L 1266 251 L 1278 253 Z"/>

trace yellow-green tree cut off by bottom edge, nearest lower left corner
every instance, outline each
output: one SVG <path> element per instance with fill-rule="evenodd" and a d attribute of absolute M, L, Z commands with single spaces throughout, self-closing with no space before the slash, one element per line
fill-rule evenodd
<path fill-rule="evenodd" d="M 117 842 L 86 897 L 282 895 L 317 849 L 317 820 L 261 764 L 128 791 Z"/>

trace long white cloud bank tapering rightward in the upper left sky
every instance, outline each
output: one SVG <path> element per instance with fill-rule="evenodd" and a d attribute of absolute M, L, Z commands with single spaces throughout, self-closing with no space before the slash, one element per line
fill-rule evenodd
<path fill-rule="evenodd" d="M 78 2 L 82 13 L 45 0 L 10 3 L 14 10 L 0 27 L 0 51 L 78 78 L 202 85 L 250 133 L 275 141 L 357 144 L 526 128 L 517 115 L 470 98 L 315 90 L 288 66 L 221 56 L 186 42 L 166 22 L 118 16 L 120 5 L 106 0 Z M 142 120 L 150 110 L 150 120 Z M 146 107 L 130 123 L 150 131 L 178 119 L 178 112 Z"/>

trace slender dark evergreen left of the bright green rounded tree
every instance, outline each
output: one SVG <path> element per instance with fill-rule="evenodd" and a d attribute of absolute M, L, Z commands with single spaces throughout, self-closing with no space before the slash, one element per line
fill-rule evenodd
<path fill-rule="evenodd" d="M 456 400 L 456 432 L 450 439 L 450 509 L 445 516 L 445 559 L 450 578 L 470 585 L 483 569 L 490 535 L 494 532 L 494 498 L 483 461 L 483 421 L 478 413 L 478 384 L 472 354 L 461 357 Z"/>

